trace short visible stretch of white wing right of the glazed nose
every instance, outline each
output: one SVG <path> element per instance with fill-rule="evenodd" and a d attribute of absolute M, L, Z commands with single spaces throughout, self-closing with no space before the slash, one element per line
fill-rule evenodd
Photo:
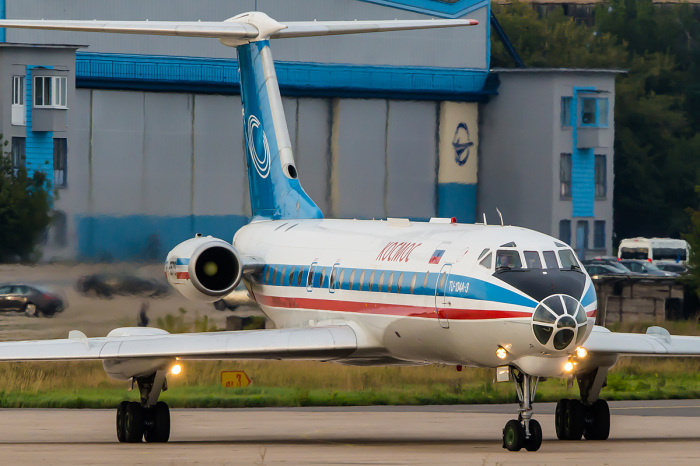
<path fill-rule="evenodd" d="M 620 356 L 700 356 L 700 337 L 671 335 L 661 327 L 641 334 L 595 326 L 583 346 L 592 353 Z"/>

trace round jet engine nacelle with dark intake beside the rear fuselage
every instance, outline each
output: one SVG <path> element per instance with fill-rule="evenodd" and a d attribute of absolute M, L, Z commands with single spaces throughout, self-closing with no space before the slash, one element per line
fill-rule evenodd
<path fill-rule="evenodd" d="M 197 235 L 168 253 L 165 275 L 183 296 L 214 302 L 231 293 L 241 281 L 243 264 L 230 243 Z"/>

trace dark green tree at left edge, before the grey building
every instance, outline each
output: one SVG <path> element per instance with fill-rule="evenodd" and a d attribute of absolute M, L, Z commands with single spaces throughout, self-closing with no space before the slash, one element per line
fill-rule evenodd
<path fill-rule="evenodd" d="M 0 135 L 1 147 L 7 141 Z M 14 168 L 9 152 L 0 153 L 0 262 L 26 260 L 51 222 L 50 185 L 46 174 L 29 177 L 24 167 Z"/>

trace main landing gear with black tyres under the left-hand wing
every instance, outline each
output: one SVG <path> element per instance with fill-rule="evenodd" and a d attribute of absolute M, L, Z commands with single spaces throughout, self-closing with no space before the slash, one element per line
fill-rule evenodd
<path fill-rule="evenodd" d="M 170 438 L 170 408 L 158 401 L 161 391 L 168 389 L 165 371 L 136 378 L 141 402 L 122 401 L 117 408 L 117 438 L 120 442 L 167 442 Z"/>

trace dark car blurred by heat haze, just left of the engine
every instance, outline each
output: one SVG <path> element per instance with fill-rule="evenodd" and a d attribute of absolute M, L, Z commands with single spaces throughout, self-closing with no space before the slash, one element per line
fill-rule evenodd
<path fill-rule="evenodd" d="M 94 273 L 80 277 L 76 282 L 80 293 L 109 298 L 115 294 L 133 294 L 149 297 L 165 296 L 170 288 L 165 282 L 127 273 Z"/>

